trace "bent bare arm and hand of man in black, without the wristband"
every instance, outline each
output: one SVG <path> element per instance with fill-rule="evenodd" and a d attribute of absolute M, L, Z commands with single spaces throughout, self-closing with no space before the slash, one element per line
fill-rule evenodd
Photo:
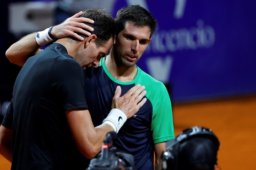
<path fill-rule="evenodd" d="M 130 118 L 137 113 L 139 108 L 146 102 L 146 98 L 139 102 L 146 94 L 145 91 L 142 92 L 143 90 L 143 86 L 140 87 L 136 85 L 126 94 L 119 97 L 121 95 L 121 89 L 117 89 L 112 103 L 114 103 L 115 108 L 123 111 L 127 118 Z M 66 117 L 80 152 L 88 159 L 95 157 L 101 150 L 106 134 L 113 131 L 113 128 L 108 124 L 101 124 L 94 128 L 88 110 L 67 111 Z"/>

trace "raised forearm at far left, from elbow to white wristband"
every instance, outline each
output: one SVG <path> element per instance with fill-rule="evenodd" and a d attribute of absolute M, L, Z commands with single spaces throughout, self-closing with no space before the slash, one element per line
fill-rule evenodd
<path fill-rule="evenodd" d="M 36 42 L 36 33 L 31 33 L 12 44 L 5 55 L 10 62 L 23 66 L 29 57 L 39 52 L 40 47 Z"/>

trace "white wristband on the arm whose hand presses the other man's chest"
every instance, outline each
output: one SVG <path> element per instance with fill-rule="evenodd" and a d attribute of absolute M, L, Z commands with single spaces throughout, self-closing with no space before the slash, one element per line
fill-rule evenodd
<path fill-rule="evenodd" d="M 121 129 L 123 124 L 126 122 L 127 116 L 119 109 L 112 109 L 110 113 L 107 115 L 106 119 L 102 121 L 102 123 L 107 123 L 116 133 Z"/>

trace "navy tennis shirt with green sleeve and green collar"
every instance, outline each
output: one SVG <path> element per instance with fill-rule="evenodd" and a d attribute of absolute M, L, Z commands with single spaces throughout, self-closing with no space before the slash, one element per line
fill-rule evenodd
<path fill-rule="evenodd" d="M 111 110 L 112 98 L 119 85 L 124 95 L 134 85 L 141 84 L 147 91 L 146 103 L 127 119 L 119 130 L 114 146 L 118 152 L 130 153 L 134 157 L 135 170 L 154 170 L 154 144 L 174 138 L 174 126 L 169 94 L 165 85 L 137 67 L 133 81 L 115 79 L 105 66 L 106 57 L 98 68 L 86 69 L 85 89 L 88 109 L 94 126 L 102 124 Z"/>

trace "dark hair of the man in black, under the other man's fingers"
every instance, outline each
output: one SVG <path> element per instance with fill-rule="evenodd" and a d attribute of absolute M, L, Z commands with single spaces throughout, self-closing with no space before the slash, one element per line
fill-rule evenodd
<path fill-rule="evenodd" d="M 91 34 L 95 34 L 97 36 L 96 39 L 96 45 L 101 46 L 105 44 L 110 38 L 114 38 L 114 35 L 116 34 L 116 22 L 115 19 L 112 17 L 111 14 L 105 13 L 105 10 L 103 9 L 89 9 L 86 11 L 83 11 L 82 15 L 79 17 L 85 17 L 90 18 L 94 20 L 94 23 L 85 23 L 88 26 L 91 26 L 94 28 L 94 31 L 91 32 L 89 30 L 86 30 L 90 32 Z M 78 35 L 82 36 L 83 38 L 86 38 L 87 35 L 77 33 Z"/>

